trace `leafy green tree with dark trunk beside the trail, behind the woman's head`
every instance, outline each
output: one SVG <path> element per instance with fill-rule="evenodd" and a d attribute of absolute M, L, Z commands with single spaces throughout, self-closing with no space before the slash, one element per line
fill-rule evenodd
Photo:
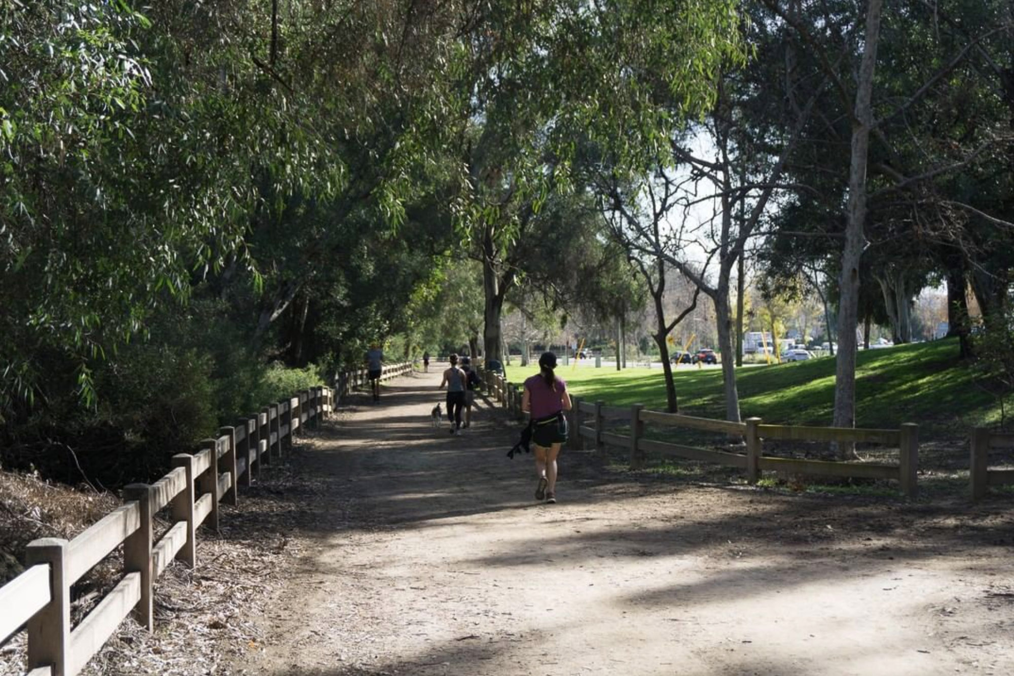
<path fill-rule="evenodd" d="M 739 54 L 732 0 L 488 2 L 462 41 L 460 130 L 467 188 L 456 204 L 484 264 L 486 353 L 500 355 L 500 315 L 514 284 L 515 243 L 555 191 L 572 185 L 574 139 L 643 161 L 667 130 L 713 97 L 723 60 Z M 672 54 L 681 58 L 673 59 Z M 655 105 L 657 93 L 679 99 Z"/>

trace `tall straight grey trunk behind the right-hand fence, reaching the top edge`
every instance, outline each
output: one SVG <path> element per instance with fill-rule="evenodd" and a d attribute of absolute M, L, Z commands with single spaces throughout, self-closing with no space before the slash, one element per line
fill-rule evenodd
<path fill-rule="evenodd" d="M 856 90 L 856 119 L 852 127 L 852 162 L 849 167 L 849 220 L 842 252 L 841 307 L 838 313 L 838 361 L 835 380 L 836 427 L 856 426 L 856 326 L 859 315 L 859 262 L 866 246 L 866 165 L 873 126 L 873 71 L 880 40 L 883 0 L 869 0 L 866 36 Z M 848 448 L 843 448 L 848 447 Z M 852 455 L 849 445 L 838 449 L 840 457 Z"/>

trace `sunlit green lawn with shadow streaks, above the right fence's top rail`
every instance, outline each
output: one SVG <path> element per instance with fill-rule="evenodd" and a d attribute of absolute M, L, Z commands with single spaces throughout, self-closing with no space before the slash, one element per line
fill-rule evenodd
<path fill-rule="evenodd" d="M 964 436 L 976 424 L 1000 420 L 997 399 L 981 377 L 957 358 L 956 340 L 901 345 L 859 352 L 856 370 L 856 424 L 860 427 L 920 425 L 920 437 Z M 531 368 L 532 373 L 535 368 Z M 526 375 L 514 366 L 510 380 Z M 557 374 L 572 394 L 610 406 L 644 404 L 665 410 L 661 368 L 643 366 L 618 371 L 560 365 Z M 724 418 L 722 373 L 681 365 L 674 374 L 679 411 Z M 835 405 L 835 358 L 743 366 L 736 373 L 743 418 L 757 416 L 775 424 L 829 425 Z"/>

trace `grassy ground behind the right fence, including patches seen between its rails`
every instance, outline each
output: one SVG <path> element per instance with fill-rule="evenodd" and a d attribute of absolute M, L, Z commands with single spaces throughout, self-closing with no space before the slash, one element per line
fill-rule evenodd
<path fill-rule="evenodd" d="M 1004 403 L 975 367 L 955 359 L 957 338 L 866 350 L 857 359 L 857 426 L 896 429 L 901 423 L 919 425 L 920 493 L 922 498 L 964 498 L 968 489 L 968 443 L 975 426 L 1003 424 Z M 743 417 L 759 417 L 769 424 L 825 426 L 835 406 L 835 359 L 825 356 L 798 363 L 751 365 L 737 369 Z M 609 406 L 643 404 L 665 410 L 664 375 L 660 369 L 628 368 L 615 373 L 587 366 L 564 368 L 568 389 L 584 401 Z M 684 365 L 676 369 L 681 392 L 680 412 L 720 418 L 724 410 L 722 378 L 717 369 Z M 627 433 L 622 422 L 621 433 Z M 742 452 L 738 441 L 724 434 L 648 425 L 646 435 L 682 445 Z M 626 449 L 609 449 L 617 469 L 626 468 Z M 835 449 L 820 443 L 772 443 L 767 455 L 830 460 Z M 891 464 L 896 449 L 863 445 L 853 460 Z M 735 468 L 690 460 L 651 457 L 644 471 L 681 481 L 745 482 Z M 996 454 L 994 463 L 1011 462 L 1010 454 Z M 626 471 L 626 470 L 625 470 Z M 769 475 L 762 487 L 790 491 L 846 492 L 897 495 L 895 482 L 872 479 L 829 479 L 814 476 Z"/>

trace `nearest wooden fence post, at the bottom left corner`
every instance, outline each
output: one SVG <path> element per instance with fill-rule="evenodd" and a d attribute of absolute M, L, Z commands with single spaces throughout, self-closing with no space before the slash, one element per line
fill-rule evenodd
<path fill-rule="evenodd" d="M 70 584 L 66 579 L 67 541 L 42 538 L 28 544 L 27 566 L 50 566 L 50 602 L 28 620 L 28 671 L 53 667 L 53 676 L 66 676 L 70 650 Z"/>

